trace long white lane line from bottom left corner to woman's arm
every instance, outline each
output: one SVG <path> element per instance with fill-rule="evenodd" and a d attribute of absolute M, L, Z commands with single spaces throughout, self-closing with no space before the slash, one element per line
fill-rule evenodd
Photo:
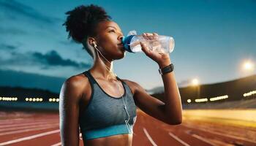
<path fill-rule="evenodd" d="M 22 141 L 29 140 L 29 139 L 34 139 L 34 138 L 37 138 L 37 137 L 43 137 L 45 135 L 55 134 L 57 132 L 59 132 L 59 129 L 58 130 L 44 132 L 44 133 L 41 133 L 41 134 L 36 134 L 36 135 L 33 135 L 33 136 L 29 136 L 29 137 L 23 137 L 23 138 L 20 138 L 20 139 L 10 140 L 10 141 L 7 141 L 7 142 L 1 142 L 0 146 L 1 145 L 10 145 L 10 144 L 13 144 L 13 143 L 16 143 L 16 142 L 22 142 Z"/>

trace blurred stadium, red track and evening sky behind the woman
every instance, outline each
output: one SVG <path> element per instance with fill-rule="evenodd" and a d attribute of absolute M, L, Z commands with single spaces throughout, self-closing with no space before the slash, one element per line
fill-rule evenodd
<path fill-rule="evenodd" d="M 61 145 L 61 85 L 92 66 L 62 26 L 81 4 L 103 7 L 125 36 L 175 39 L 170 58 L 184 121 L 170 126 L 138 109 L 133 145 L 256 145 L 256 1 L 249 0 L 0 0 L 0 145 Z M 145 54 L 126 53 L 114 71 L 163 101 L 158 65 Z"/>

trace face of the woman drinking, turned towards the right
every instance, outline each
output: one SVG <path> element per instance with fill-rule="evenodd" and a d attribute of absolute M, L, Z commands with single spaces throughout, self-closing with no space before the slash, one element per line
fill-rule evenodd
<path fill-rule="evenodd" d="M 105 58 L 117 60 L 124 58 L 125 50 L 121 44 L 123 33 L 118 24 L 113 21 L 103 21 L 97 25 L 97 36 L 94 37 L 97 48 Z"/>

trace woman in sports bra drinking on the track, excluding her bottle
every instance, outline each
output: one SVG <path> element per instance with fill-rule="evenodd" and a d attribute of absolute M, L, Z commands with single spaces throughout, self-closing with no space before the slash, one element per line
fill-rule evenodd
<path fill-rule="evenodd" d="M 59 113 L 62 145 L 132 145 L 136 107 L 170 125 L 182 122 L 181 97 L 173 72 L 165 72 L 164 102 L 149 95 L 137 82 L 113 73 L 113 61 L 124 58 L 124 37 L 102 7 L 75 7 L 64 23 L 69 37 L 83 45 L 94 59 L 91 69 L 69 77 L 61 86 Z M 144 33 L 146 39 L 158 34 Z M 159 69 L 170 67 L 169 53 L 157 53 L 140 43 L 143 53 Z M 143 66 L 142 66 L 143 67 Z M 131 66 L 132 70 L 132 66 Z"/>

